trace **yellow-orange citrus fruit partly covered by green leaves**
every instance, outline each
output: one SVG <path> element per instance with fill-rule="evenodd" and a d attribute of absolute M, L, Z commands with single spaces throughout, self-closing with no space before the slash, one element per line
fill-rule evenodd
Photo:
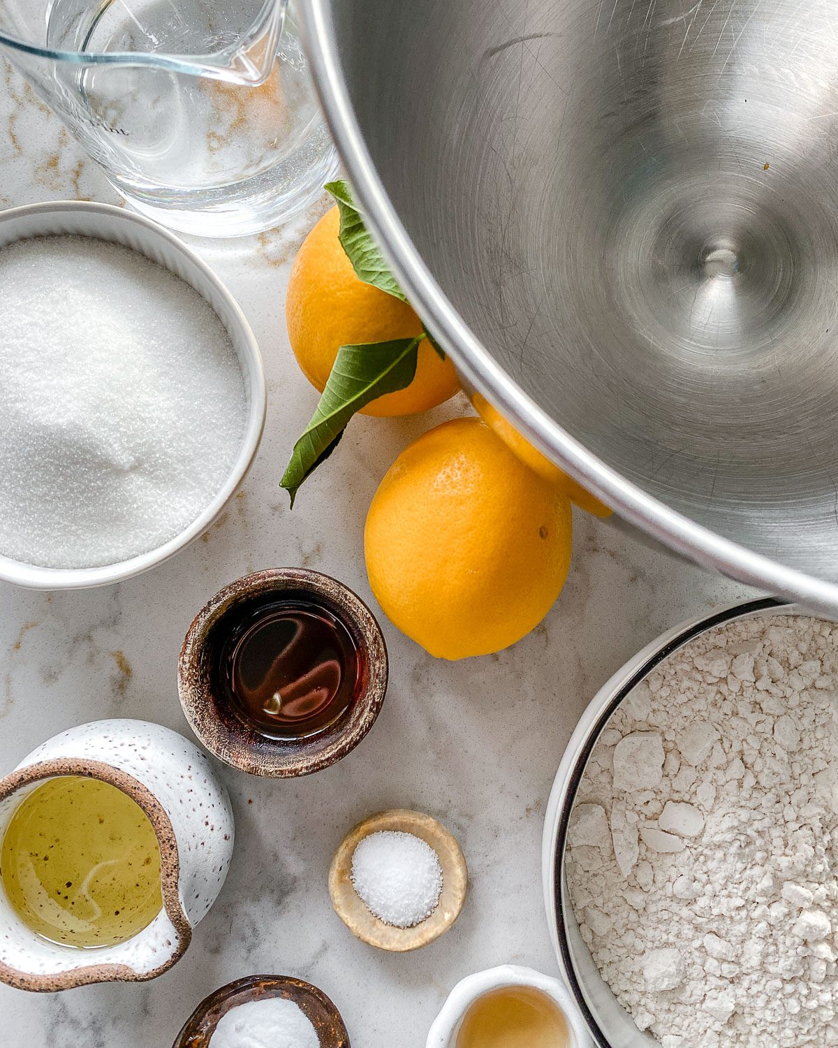
<path fill-rule="evenodd" d="M 400 299 L 358 280 L 338 240 L 332 208 L 309 233 L 294 259 L 285 300 L 288 339 L 296 363 L 323 392 L 340 346 L 389 342 L 419 334 L 422 322 Z M 454 365 L 427 341 L 419 345 L 416 377 L 365 409 L 367 415 L 413 415 L 436 408 L 459 390 Z"/>

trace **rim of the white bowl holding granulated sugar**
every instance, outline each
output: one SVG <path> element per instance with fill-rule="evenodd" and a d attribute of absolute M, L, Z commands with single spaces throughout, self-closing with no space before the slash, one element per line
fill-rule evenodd
<path fill-rule="evenodd" d="M 133 224 L 140 228 L 148 238 L 152 240 L 156 238 L 158 241 L 166 242 L 201 271 L 201 276 L 207 283 L 213 285 L 219 298 L 224 300 L 226 308 L 229 310 L 229 315 L 238 328 L 237 335 L 239 336 L 241 346 L 245 350 L 246 356 L 246 367 L 242 368 L 242 377 L 245 387 L 248 388 L 249 407 L 247 424 L 236 461 L 215 497 L 195 518 L 192 524 L 173 539 L 164 542 L 161 546 L 156 546 L 154 549 L 150 549 L 145 553 L 138 553 L 136 556 L 131 556 L 126 561 L 119 561 L 116 564 L 101 565 L 98 567 L 48 568 L 35 564 L 25 564 L 0 554 L 0 580 L 24 587 L 25 589 L 35 590 L 85 589 L 93 586 L 108 586 L 112 583 L 123 582 L 126 578 L 141 574 L 144 571 L 157 567 L 157 565 L 174 556 L 175 553 L 180 552 L 181 549 L 194 542 L 195 539 L 206 530 L 247 475 L 259 450 L 267 412 L 267 392 L 262 355 L 256 341 L 256 335 L 241 306 L 227 289 L 226 285 L 216 275 L 215 270 L 179 237 L 176 237 L 169 230 L 147 218 L 145 215 L 126 211 L 124 208 L 116 206 L 115 204 L 100 203 L 98 201 L 91 200 L 53 200 L 42 203 L 23 204 L 19 208 L 7 208 L 0 212 L 0 223 L 5 223 L 15 218 L 28 218 L 32 216 L 47 218 L 68 213 L 86 215 L 91 219 L 94 219 L 97 215 L 103 215 L 116 222 L 125 222 L 129 225 Z M 46 224 L 43 233 L 40 235 L 61 236 L 61 234 L 51 233 Z M 39 236 L 39 234 L 37 232 L 27 234 L 26 238 L 22 237 L 20 239 L 28 239 L 32 236 Z M 97 236 L 92 223 L 89 233 L 79 232 L 78 234 L 73 234 L 73 236 L 89 236 L 94 239 L 105 239 L 102 236 Z M 14 241 L 9 241 L 9 243 L 12 242 Z M 129 249 L 135 250 L 133 247 L 129 247 Z M 142 253 L 137 252 L 137 254 L 141 255 Z M 162 262 L 158 262 L 157 264 L 169 269 L 169 266 Z M 169 269 L 169 271 L 172 272 L 173 270 Z M 174 276 L 178 275 L 174 274 Z M 179 277 L 178 279 L 182 280 L 183 278 Z M 185 281 L 185 283 L 189 283 L 189 281 Z M 198 293 L 200 294 L 200 291 Z M 203 296 L 201 297 L 203 298 Z M 204 301 L 206 302 L 206 299 Z M 216 312 L 210 302 L 207 302 L 207 305 Z M 219 320 L 221 320 L 220 316 Z M 223 324 L 223 321 L 221 323 Z M 224 327 L 229 332 L 229 325 L 224 325 Z"/>

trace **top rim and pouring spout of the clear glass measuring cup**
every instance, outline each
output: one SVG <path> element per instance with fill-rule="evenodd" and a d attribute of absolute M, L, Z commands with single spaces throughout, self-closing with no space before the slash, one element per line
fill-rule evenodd
<path fill-rule="evenodd" d="M 288 0 L 0 0 L 0 47 L 24 66 L 27 60 L 145 66 L 256 87 L 270 75 L 287 6 Z M 118 42 L 116 25 L 124 27 Z"/>

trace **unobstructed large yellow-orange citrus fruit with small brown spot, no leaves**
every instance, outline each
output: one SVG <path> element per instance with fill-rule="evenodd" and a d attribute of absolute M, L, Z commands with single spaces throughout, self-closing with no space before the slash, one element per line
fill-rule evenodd
<path fill-rule="evenodd" d="M 388 617 L 432 655 L 487 655 L 544 618 L 570 566 L 568 498 L 479 418 L 423 434 L 375 493 L 363 547 Z"/>

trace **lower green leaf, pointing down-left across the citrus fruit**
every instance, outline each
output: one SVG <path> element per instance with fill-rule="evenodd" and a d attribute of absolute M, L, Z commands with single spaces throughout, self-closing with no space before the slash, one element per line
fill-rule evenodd
<path fill-rule="evenodd" d="M 340 347 L 319 403 L 280 481 L 291 497 L 291 508 L 300 485 L 332 454 L 355 412 L 384 393 L 411 385 L 422 339 L 420 334 Z"/>

